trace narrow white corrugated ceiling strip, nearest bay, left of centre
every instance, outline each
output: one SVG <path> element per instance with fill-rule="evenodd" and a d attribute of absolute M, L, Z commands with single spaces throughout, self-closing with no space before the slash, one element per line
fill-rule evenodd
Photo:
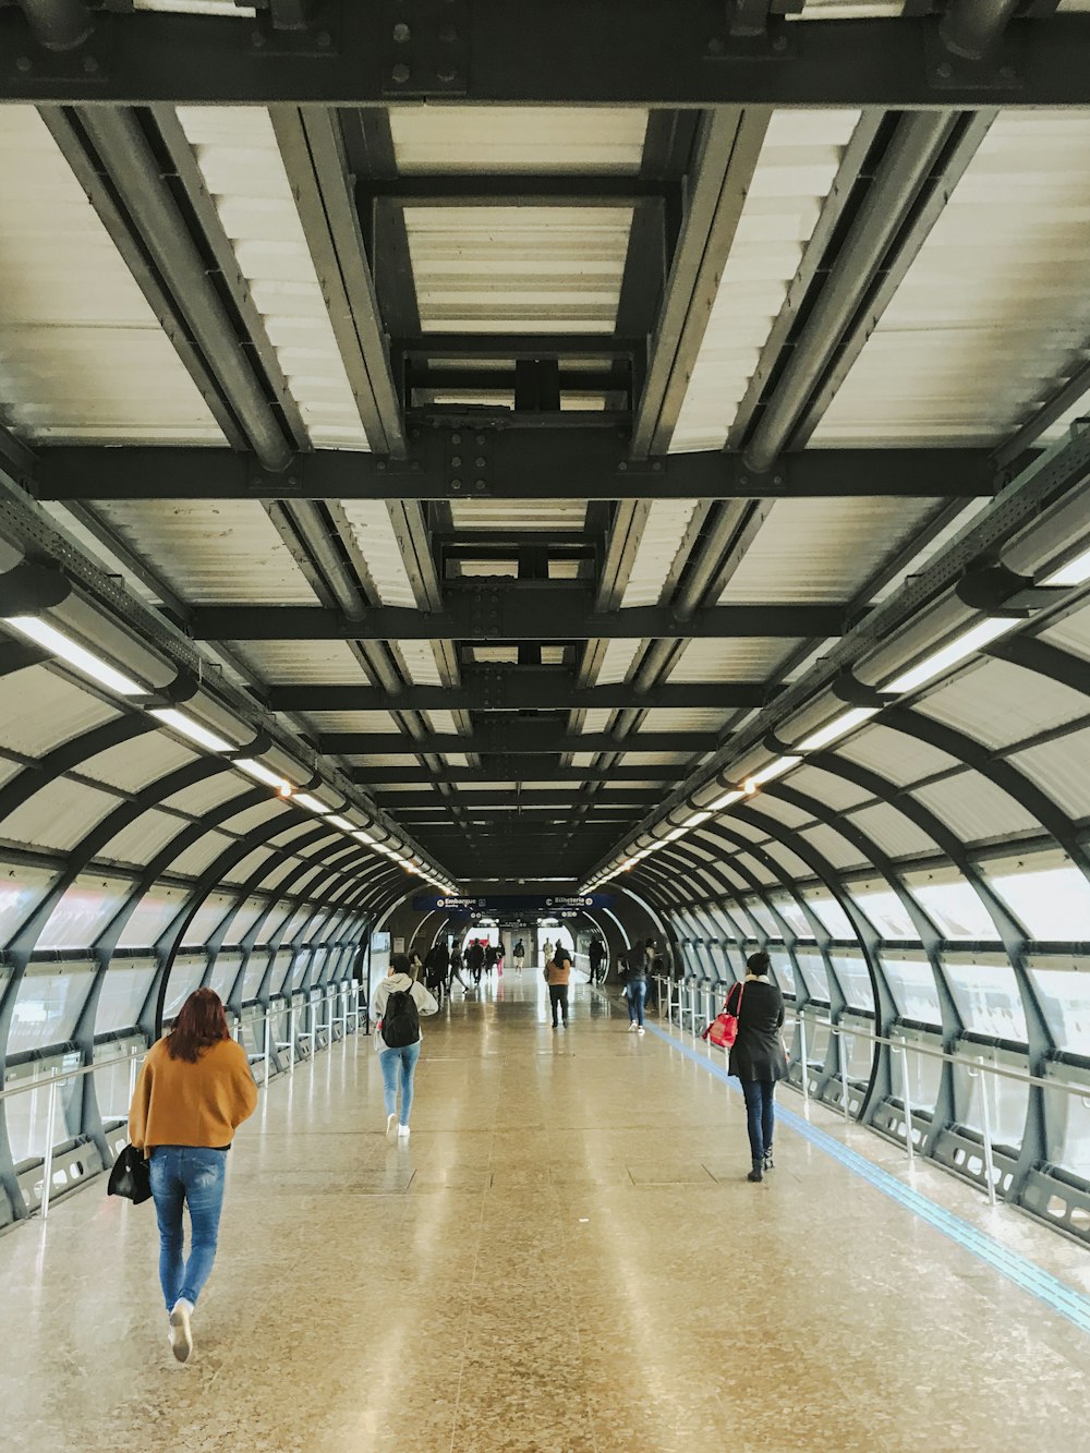
<path fill-rule="evenodd" d="M 311 445 L 366 449 L 269 112 L 260 106 L 180 106 L 177 118 Z"/>

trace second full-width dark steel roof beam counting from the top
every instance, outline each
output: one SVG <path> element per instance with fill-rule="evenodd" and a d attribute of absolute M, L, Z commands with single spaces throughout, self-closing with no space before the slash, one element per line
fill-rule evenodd
<path fill-rule="evenodd" d="M 38 452 L 39 500 L 748 500 L 977 498 L 1003 481 L 984 449 L 808 449 L 769 474 L 741 452 L 629 461 L 623 430 L 421 427 L 404 461 L 317 449 L 283 472 L 233 449 L 55 446 Z"/>

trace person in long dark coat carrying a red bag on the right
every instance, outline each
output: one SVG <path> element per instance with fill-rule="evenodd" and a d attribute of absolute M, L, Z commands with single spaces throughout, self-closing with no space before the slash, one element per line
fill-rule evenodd
<path fill-rule="evenodd" d="M 746 1126 L 750 1133 L 753 1170 L 747 1180 L 764 1178 L 772 1170 L 772 1109 L 776 1081 L 788 1078 L 788 1056 L 780 1039 L 783 995 L 769 982 L 772 968 L 767 953 L 753 953 L 746 960 L 746 979 L 737 992 L 727 995 L 738 1020 L 738 1037 L 731 1048 L 727 1072 L 741 1080 L 746 1096 Z M 734 1004 L 731 1005 L 731 1000 Z"/>

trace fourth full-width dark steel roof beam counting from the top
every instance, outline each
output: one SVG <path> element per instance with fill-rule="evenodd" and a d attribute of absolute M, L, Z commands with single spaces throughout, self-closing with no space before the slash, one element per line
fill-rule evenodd
<path fill-rule="evenodd" d="M 405 686 L 397 693 L 368 686 L 270 686 L 265 702 L 273 712 L 385 711 L 580 711 L 638 706 L 641 709 L 722 709 L 764 706 L 776 687 L 764 681 L 709 681 L 655 686 L 637 692 L 623 683 L 578 687 L 565 671 L 533 667 L 467 671 L 461 686 Z"/>

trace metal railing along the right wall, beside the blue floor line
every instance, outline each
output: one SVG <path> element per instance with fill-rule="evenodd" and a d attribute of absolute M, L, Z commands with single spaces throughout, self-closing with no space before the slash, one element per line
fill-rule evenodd
<path fill-rule="evenodd" d="M 661 984 L 670 985 L 670 981 L 660 981 Z M 692 1032 L 693 1042 L 699 1037 L 698 1024 L 703 1021 L 709 1023 L 715 1016 L 715 1003 L 719 995 L 728 992 L 731 985 L 722 984 L 706 984 L 696 979 L 677 979 L 674 981 L 674 988 L 677 989 L 677 1027 L 682 1033 L 686 1032 L 685 1020 L 689 1019 L 689 1029 Z M 699 995 L 699 998 L 698 998 Z M 686 1003 L 687 1000 L 687 1003 Z M 663 995 L 660 989 L 660 1016 L 663 1013 Z M 698 1013 L 699 1005 L 699 1013 Z M 667 1023 L 673 1024 L 673 1007 L 674 995 L 667 994 L 666 997 L 666 1017 Z M 904 1141 L 905 1151 L 908 1157 L 908 1165 L 916 1164 L 916 1145 L 913 1141 L 913 1101 L 910 1094 L 911 1084 L 911 1067 L 908 1055 L 920 1055 L 926 1059 L 939 1059 L 943 1064 L 956 1065 L 958 1068 L 968 1072 L 971 1080 L 981 1080 L 982 1075 L 996 1075 L 1001 1080 L 1013 1080 L 1017 1084 L 1026 1085 L 1028 1088 L 1039 1090 L 1055 1090 L 1061 1094 L 1074 1096 L 1081 1101 L 1084 1109 L 1090 1110 L 1090 1088 L 1087 1085 L 1068 1084 L 1065 1080 L 1051 1080 L 1043 1075 L 1030 1075 L 1019 1069 L 1010 1069 L 1004 1065 L 988 1064 L 982 1055 L 969 1058 L 968 1055 L 952 1055 L 945 1049 L 932 1049 L 927 1045 L 920 1045 L 913 1042 L 907 1035 L 875 1035 L 859 1024 L 837 1024 L 831 1019 L 823 1014 L 808 1014 L 802 1010 L 798 1014 L 785 1019 L 783 1027 L 795 1026 L 799 1032 L 799 1065 L 802 1067 L 802 1081 L 798 1087 L 802 1093 L 804 1101 L 810 1103 L 810 1058 L 807 1053 L 807 1024 L 812 1024 L 814 1029 L 827 1029 L 837 1042 L 837 1071 L 840 1078 L 840 1109 L 844 1120 L 849 1123 L 853 1120 L 850 1107 L 850 1091 L 847 1080 L 847 1052 L 844 1049 L 844 1040 L 849 1036 L 859 1039 L 866 1039 L 872 1045 L 885 1045 L 892 1053 L 901 1056 L 901 1077 L 903 1077 L 903 1096 L 901 1103 L 904 1107 Z M 715 1046 L 709 1046 L 715 1048 Z M 728 1051 L 724 1051 L 724 1059 L 730 1056 Z M 791 1081 L 788 1081 L 791 1084 Z M 792 1085 L 794 1088 L 794 1085 Z M 981 1084 L 981 1088 L 982 1084 Z M 991 1139 L 991 1114 L 988 1110 L 988 1096 L 987 1091 L 981 1094 L 981 1141 L 984 1149 L 984 1173 L 987 1178 L 987 1193 L 988 1202 L 996 1205 L 996 1159 L 994 1148 Z"/>

